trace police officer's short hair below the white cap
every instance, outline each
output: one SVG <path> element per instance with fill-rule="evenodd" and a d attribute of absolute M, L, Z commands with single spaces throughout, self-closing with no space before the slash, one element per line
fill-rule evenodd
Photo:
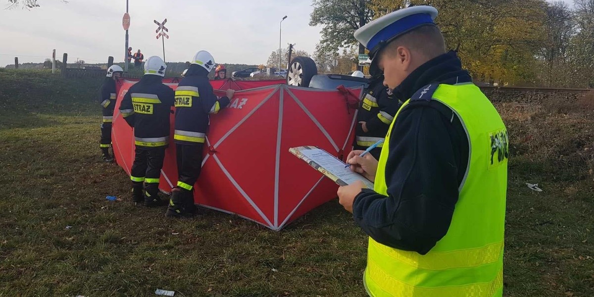
<path fill-rule="evenodd" d="M 406 46 L 415 53 L 421 53 L 427 59 L 445 53 L 445 40 L 441 30 L 434 25 L 418 27 L 390 42 L 382 52 L 393 55 L 400 46 Z"/>

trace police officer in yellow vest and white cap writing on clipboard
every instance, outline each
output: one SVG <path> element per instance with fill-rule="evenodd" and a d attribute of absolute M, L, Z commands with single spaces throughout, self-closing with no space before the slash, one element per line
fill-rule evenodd
<path fill-rule="evenodd" d="M 362 151 L 347 158 L 374 188 L 341 187 L 340 204 L 369 235 L 370 296 L 502 296 L 507 130 L 445 51 L 435 17 L 409 7 L 355 32 L 406 102 L 379 162 Z"/>

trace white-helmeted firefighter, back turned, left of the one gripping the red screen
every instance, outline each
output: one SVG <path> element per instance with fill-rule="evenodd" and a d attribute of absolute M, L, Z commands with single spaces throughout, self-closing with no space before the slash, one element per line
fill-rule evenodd
<path fill-rule="evenodd" d="M 169 116 L 173 106 L 173 90 L 162 83 L 165 62 L 151 56 L 144 63 L 144 76 L 130 87 L 120 106 L 128 125 L 134 128 L 135 157 L 130 174 L 132 201 L 145 206 L 165 206 L 160 200 L 159 178 L 165 149 L 169 145 Z M 144 182 L 144 192 L 143 192 Z"/>

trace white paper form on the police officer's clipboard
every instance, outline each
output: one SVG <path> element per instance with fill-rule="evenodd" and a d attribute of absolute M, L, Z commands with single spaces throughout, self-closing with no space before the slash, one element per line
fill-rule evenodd
<path fill-rule="evenodd" d="M 326 169 L 332 175 L 346 182 L 346 184 L 353 184 L 355 181 L 362 181 L 366 187 L 372 189 L 373 183 L 364 178 L 359 173 L 353 172 L 350 168 L 345 168 L 346 164 L 336 157 L 332 156 L 325 150 L 312 149 L 302 150 L 304 156 L 317 163 L 321 168 Z"/>

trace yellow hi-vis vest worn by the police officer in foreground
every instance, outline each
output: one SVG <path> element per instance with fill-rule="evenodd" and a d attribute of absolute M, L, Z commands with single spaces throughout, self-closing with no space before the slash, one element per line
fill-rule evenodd
<path fill-rule="evenodd" d="M 421 91 L 428 93 L 422 93 L 423 99 L 432 97 L 459 116 L 470 144 L 466 178 L 450 229 L 426 255 L 369 238 L 365 289 L 374 297 L 502 296 L 507 130 L 497 110 L 472 83 L 434 84 Z M 394 122 L 375 176 L 374 190 L 383 195 L 388 195 L 385 170 Z M 435 149 L 439 146 L 435 144 Z"/>

